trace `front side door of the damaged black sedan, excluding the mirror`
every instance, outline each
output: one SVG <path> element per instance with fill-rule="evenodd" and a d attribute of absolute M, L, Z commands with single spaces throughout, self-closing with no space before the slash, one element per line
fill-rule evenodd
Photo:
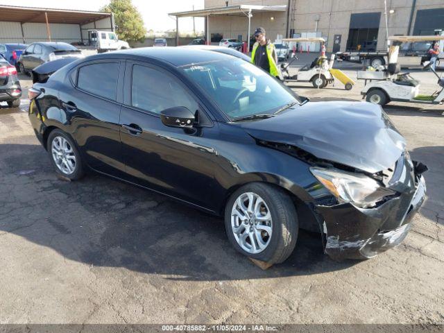
<path fill-rule="evenodd" d="M 174 106 L 198 112 L 202 127 L 165 126 L 160 112 Z M 176 76 L 159 67 L 128 61 L 120 123 L 130 181 L 201 207 L 214 205 L 210 198 L 216 151 L 210 142 L 219 128 Z"/>

